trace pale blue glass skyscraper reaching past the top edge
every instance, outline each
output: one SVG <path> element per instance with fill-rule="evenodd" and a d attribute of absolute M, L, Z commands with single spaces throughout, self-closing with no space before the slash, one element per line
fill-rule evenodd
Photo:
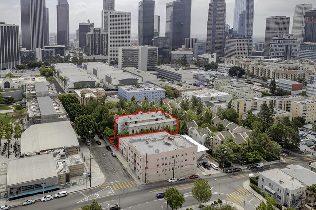
<path fill-rule="evenodd" d="M 233 31 L 249 39 L 248 56 L 252 51 L 253 10 L 254 0 L 235 0 Z"/>

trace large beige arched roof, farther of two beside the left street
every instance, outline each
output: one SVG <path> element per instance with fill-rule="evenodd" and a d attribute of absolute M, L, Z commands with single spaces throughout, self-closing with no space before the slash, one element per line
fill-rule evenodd
<path fill-rule="evenodd" d="M 21 154 L 73 146 L 79 142 L 69 121 L 32 125 L 21 136 Z"/>

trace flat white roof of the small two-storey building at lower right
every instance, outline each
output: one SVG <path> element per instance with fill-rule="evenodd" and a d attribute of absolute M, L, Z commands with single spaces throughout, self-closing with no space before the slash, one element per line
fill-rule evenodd
<path fill-rule="evenodd" d="M 271 181 L 280 184 L 282 187 L 287 188 L 289 190 L 295 190 L 300 187 L 304 187 L 305 185 L 297 179 L 289 176 L 287 173 L 283 172 L 279 168 L 270 169 L 267 171 L 259 172 L 259 176 L 263 175 L 267 177 Z M 281 182 L 280 182 L 281 180 Z"/>

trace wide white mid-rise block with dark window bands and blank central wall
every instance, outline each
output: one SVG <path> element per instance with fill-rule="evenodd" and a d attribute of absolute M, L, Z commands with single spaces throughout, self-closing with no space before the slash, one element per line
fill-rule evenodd
<path fill-rule="evenodd" d="M 119 47 L 119 69 L 135 67 L 142 71 L 154 70 L 158 48 L 153 46 Z"/>

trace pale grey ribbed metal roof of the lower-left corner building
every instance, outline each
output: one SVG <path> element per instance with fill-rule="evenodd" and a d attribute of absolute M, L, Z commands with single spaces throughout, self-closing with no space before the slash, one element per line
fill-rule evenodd
<path fill-rule="evenodd" d="M 7 186 L 57 177 L 53 154 L 19 158 L 8 162 Z"/>

